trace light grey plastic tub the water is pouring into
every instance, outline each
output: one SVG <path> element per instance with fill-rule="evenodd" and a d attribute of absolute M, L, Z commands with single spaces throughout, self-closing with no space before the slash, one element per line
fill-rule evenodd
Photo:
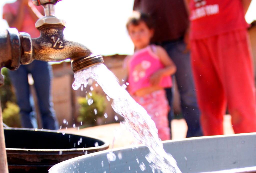
<path fill-rule="evenodd" d="M 194 137 L 164 141 L 163 144 L 183 173 L 256 172 L 256 133 Z M 113 150 L 114 162 L 108 161 L 109 152 L 105 150 L 63 161 L 51 167 L 49 173 L 152 172 L 145 159 L 148 153 L 145 146 Z M 145 164 L 145 171 L 140 169 L 136 159 Z"/>

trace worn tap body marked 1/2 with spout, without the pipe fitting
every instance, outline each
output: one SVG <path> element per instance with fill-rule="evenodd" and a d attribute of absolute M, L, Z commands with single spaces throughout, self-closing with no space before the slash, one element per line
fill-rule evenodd
<path fill-rule="evenodd" d="M 45 10 L 45 17 L 36 22 L 40 37 L 32 39 L 35 48 L 33 58 L 42 61 L 71 59 L 74 72 L 103 63 L 101 55 L 93 55 L 86 46 L 64 38 L 63 29 L 66 22 L 55 17 L 54 5 L 59 1 L 61 0 L 33 0 L 33 4 L 42 5 Z"/>

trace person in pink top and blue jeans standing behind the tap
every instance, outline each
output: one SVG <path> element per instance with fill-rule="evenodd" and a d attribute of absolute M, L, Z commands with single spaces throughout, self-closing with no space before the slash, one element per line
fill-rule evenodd
<path fill-rule="evenodd" d="M 5 4 L 3 7 L 3 19 L 11 28 L 19 32 L 27 32 L 32 38 L 40 36 L 35 27 L 35 22 L 43 17 L 42 6 L 36 7 L 32 0 L 17 0 L 14 3 Z M 24 128 L 38 128 L 35 111 L 30 99 L 28 74 L 34 79 L 38 107 L 42 119 L 42 128 L 57 130 L 59 123 L 53 108 L 51 97 L 52 67 L 48 62 L 34 60 L 27 65 L 20 65 L 16 71 L 9 71 L 9 76 L 15 88 L 17 104 L 20 108 L 21 125 Z"/>

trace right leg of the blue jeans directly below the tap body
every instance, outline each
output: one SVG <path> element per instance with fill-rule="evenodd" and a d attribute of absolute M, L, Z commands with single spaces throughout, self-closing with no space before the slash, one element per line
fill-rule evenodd
<path fill-rule="evenodd" d="M 35 60 L 32 63 L 36 66 L 36 68 L 31 67 L 31 74 L 34 79 L 42 126 L 44 129 L 57 130 L 59 124 L 51 96 L 52 67 L 48 65 L 48 62 Z"/>

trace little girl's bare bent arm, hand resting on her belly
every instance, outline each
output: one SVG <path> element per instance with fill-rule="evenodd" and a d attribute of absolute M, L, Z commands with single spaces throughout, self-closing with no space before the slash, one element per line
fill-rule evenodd
<path fill-rule="evenodd" d="M 176 65 L 170 59 L 164 48 L 162 48 L 161 46 L 157 46 L 156 54 L 159 57 L 160 61 L 164 64 L 165 68 L 162 68 L 155 72 L 153 75 L 151 75 L 150 82 L 153 86 L 159 85 L 163 76 L 171 76 L 176 72 Z"/>

